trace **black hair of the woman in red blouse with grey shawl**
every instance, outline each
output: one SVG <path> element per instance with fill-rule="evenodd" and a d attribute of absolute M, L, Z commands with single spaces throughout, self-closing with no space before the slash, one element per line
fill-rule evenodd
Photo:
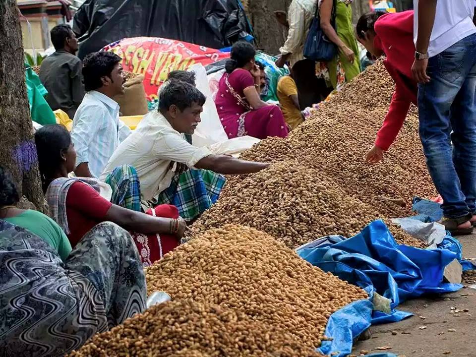
<path fill-rule="evenodd" d="M 53 174 L 63 163 L 61 153 L 71 145 L 71 135 L 62 125 L 45 125 L 36 131 L 35 144 L 43 192 L 46 192 Z"/>

